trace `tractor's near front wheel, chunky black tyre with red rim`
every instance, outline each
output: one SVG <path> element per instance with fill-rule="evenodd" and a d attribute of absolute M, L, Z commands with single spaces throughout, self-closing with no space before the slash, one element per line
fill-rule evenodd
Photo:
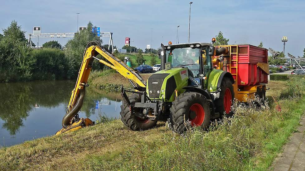
<path fill-rule="evenodd" d="M 200 108 L 203 108 L 203 121 L 202 119 L 199 122 L 196 122 L 199 117 L 197 116 L 196 111 L 191 110 L 191 107 L 195 105 Z M 193 108 L 193 107 L 192 107 Z M 200 126 L 203 129 L 207 129 L 210 125 L 211 120 L 211 109 L 210 104 L 200 93 L 196 92 L 185 92 L 179 95 L 175 101 L 172 103 L 172 107 L 170 108 L 170 119 L 171 119 L 171 126 L 174 128 L 175 132 L 182 134 L 186 131 L 187 126 L 186 121 L 191 121 L 192 123 L 201 123 L 196 126 Z M 194 113 L 195 112 L 195 117 Z"/>

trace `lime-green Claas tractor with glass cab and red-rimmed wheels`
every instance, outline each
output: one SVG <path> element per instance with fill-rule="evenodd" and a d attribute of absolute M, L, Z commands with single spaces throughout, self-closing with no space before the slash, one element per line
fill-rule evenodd
<path fill-rule="evenodd" d="M 161 71 L 152 74 L 138 91 L 122 88 L 121 120 L 131 130 L 145 130 L 170 118 L 183 133 L 187 122 L 206 129 L 211 119 L 232 115 L 234 79 L 213 67 L 213 57 L 227 53 L 209 43 L 161 44 Z M 132 92 L 128 97 L 125 92 Z"/>

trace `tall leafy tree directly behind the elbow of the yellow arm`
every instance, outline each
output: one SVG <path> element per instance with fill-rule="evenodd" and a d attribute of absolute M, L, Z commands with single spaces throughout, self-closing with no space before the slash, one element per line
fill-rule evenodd
<path fill-rule="evenodd" d="M 75 78 L 78 75 L 86 45 L 94 40 L 102 43 L 102 40 L 100 40 L 95 33 L 92 33 L 92 27 L 93 24 L 89 21 L 87 28 L 85 30 L 80 30 L 79 33 L 75 33 L 74 38 L 69 40 L 66 44 L 67 50 L 65 51 L 65 56 L 69 59 L 68 78 Z M 97 62 L 93 63 L 93 68 L 103 67 L 103 65 L 96 65 L 96 63 Z"/>

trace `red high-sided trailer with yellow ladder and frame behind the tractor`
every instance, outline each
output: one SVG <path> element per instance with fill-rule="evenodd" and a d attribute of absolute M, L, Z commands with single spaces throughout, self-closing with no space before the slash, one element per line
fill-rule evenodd
<path fill-rule="evenodd" d="M 250 44 L 216 48 L 220 47 L 228 48 L 229 52 L 215 56 L 213 63 L 217 69 L 232 74 L 235 79 L 235 98 L 245 102 L 258 95 L 264 100 L 269 75 L 268 50 Z"/>

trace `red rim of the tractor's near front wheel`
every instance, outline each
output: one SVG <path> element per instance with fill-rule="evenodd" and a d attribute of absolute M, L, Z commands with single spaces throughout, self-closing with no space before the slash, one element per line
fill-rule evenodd
<path fill-rule="evenodd" d="M 193 117 L 193 119 L 191 119 L 191 117 L 190 117 L 190 114 L 192 112 L 194 112 L 196 114 L 196 116 Z M 205 115 L 204 109 L 200 104 L 195 103 L 195 104 L 191 105 L 191 108 L 189 111 L 189 118 L 190 118 L 192 126 L 194 126 L 194 125 L 201 126 L 203 123 L 203 120 L 204 120 L 204 115 Z"/>

